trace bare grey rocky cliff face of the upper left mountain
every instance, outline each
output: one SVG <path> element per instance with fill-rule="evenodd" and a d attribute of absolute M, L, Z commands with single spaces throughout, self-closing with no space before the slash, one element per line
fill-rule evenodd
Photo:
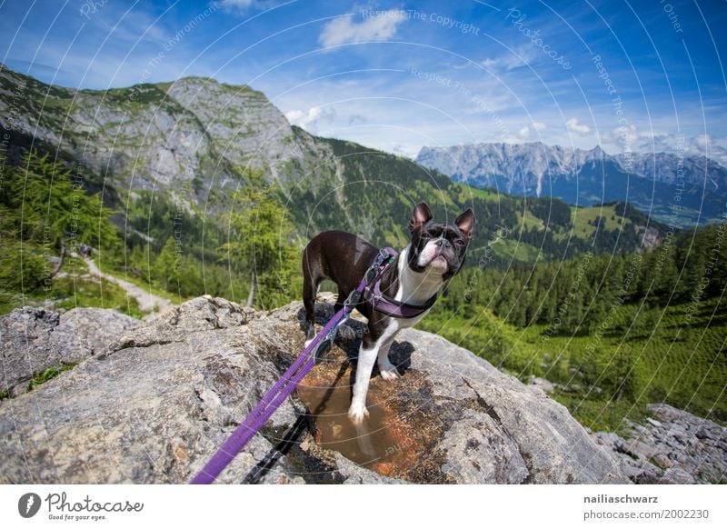
<path fill-rule="evenodd" d="M 199 77 L 74 90 L 0 66 L 0 126 L 54 145 L 119 189 L 167 192 L 189 207 L 224 204 L 244 165 L 295 155 L 290 125 L 262 93 Z"/>

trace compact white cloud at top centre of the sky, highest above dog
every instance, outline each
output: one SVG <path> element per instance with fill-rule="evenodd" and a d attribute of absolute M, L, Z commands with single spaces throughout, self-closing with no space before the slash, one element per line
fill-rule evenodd
<path fill-rule="evenodd" d="M 324 26 L 318 42 L 330 47 L 371 40 L 389 40 L 406 18 L 405 12 L 395 9 L 364 18 L 362 22 L 355 22 L 354 15 L 341 16 Z"/>

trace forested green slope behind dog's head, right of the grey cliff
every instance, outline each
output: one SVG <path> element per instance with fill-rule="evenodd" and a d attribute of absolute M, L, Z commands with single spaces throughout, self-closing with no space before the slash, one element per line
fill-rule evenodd
<path fill-rule="evenodd" d="M 306 135 L 300 129 L 297 132 Z M 637 217 L 628 206 L 575 208 L 549 197 L 505 195 L 453 183 L 407 158 L 362 145 L 324 138 L 314 142 L 331 148 L 338 174 L 323 192 L 300 187 L 286 190 L 296 225 L 308 228 L 304 238 L 316 230 L 344 229 L 374 245 L 401 247 L 406 243 L 404 228 L 411 209 L 420 200 L 428 201 L 435 218 L 443 220 L 472 207 L 477 221 L 471 258 L 477 260 L 492 249 L 495 265 L 550 261 L 587 250 L 628 253 L 642 246 L 647 225 L 656 235 L 666 231 L 643 215 Z"/>

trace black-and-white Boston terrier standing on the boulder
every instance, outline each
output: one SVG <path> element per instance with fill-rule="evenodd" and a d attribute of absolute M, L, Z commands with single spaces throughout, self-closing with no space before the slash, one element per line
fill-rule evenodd
<path fill-rule="evenodd" d="M 394 336 L 412 327 L 427 314 L 433 299 L 443 285 L 460 271 L 464 254 L 472 238 L 474 213 L 467 209 L 454 219 L 452 225 L 442 225 L 433 220 L 432 211 L 425 202 L 413 209 L 409 222 L 411 242 L 388 266 L 381 278 L 380 289 L 390 301 L 399 304 L 419 305 L 420 314 L 413 317 L 393 317 L 377 311 L 371 301 L 364 301 L 356 308 L 368 318 L 368 331 L 358 354 L 354 396 L 348 416 L 354 424 L 361 424 L 365 416 L 366 392 L 378 359 L 379 373 L 385 380 L 398 376 L 396 367 L 389 362 L 389 347 Z M 314 303 L 318 285 L 324 278 L 338 285 L 338 311 L 348 295 L 361 283 L 379 250 L 345 232 L 331 231 L 316 235 L 303 252 L 303 303 L 305 306 L 306 345 L 314 339 Z"/>

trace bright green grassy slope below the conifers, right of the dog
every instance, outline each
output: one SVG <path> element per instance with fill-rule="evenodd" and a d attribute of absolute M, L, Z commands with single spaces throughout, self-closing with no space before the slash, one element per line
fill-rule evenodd
<path fill-rule="evenodd" d="M 623 305 L 603 335 L 553 334 L 547 325 L 518 328 L 479 308 L 463 318 L 435 311 L 419 324 L 526 380 L 557 384 L 551 396 L 593 431 L 619 432 L 640 422 L 646 404 L 666 403 L 727 422 L 727 316 L 723 303 L 640 310 Z"/>

